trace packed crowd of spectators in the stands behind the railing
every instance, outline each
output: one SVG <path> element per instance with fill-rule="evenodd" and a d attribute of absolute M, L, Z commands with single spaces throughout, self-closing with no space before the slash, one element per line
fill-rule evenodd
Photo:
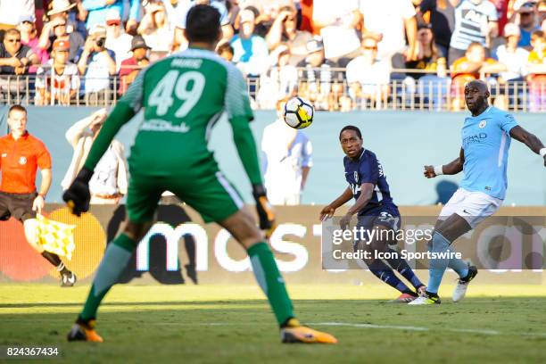
<path fill-rule="evenodd" d="M 203 3 L 257 108 L 298 94 L 320 110 L 415 97 L 459 110 L 484 79 L 495 104 L 546 110 L 546 0 L 0 0 L 0 102 L 112 103 L 186 48 Z"/>

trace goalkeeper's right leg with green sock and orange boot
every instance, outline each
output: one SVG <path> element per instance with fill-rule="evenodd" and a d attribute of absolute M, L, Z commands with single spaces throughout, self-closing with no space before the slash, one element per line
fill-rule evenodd
<path fill-rule="evenodd" d="M 294 317 L 292 301 L 285 288 L 285 281 L 261 231 L 256 227 L 252 214 L 245 208 L 219 222 L 225 227 L 250 257 L 252 271 L 268 297 L 281 329 L 283 343 L 337 343 L 334 336 L 304 327 Z"/>

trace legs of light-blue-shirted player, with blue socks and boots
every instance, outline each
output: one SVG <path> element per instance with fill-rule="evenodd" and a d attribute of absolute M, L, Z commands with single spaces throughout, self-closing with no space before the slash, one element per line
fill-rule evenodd
<path fill-rule="evenodd" d="M 429 243 L 429 251 L 435 253 L 442 252 L 455 252 L 451 248 L 451 244 L 470 231 L 471 227 L 467 220 L 459 216 L 458 214 L 452 214 L 448 219 L 436 221 L 434 227 L 433 240 Z M 443 273 L 445 269 L 451 268 L 459 274 L 458 288 L 460 298 L 466 293 L 467 283 L 474 277 L 476 277 L 477 270 L 475 267 L 468 267 L 467 263 L 457 258 L 445 258 L 445 259 L 433 259 L 430 261 L 429 267 L 429 281 L 426 287 L 425 294 L 422 294 L 418 300 L 410 302 L 409 304 L 431 304 L 440 303 L 438 297 L 438 289 L 442 282 Z M 461 285 L 459 287 L 459 285 Z M 464 288 L 464 289 L 463 289 Z M 456 288 L 457 291 L 457 288 Z M 464 291 L 464 292 L 462 292 Z M 459 301 L 459 300 L 458 300 Z"/>

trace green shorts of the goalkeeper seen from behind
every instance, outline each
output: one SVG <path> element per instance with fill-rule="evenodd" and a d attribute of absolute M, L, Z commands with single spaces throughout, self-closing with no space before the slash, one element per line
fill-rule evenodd
<path fill-rule="evenodd" d="M 129 167 L 130 168 L 130 167 Z M 243 199 L 227 178 L 216 168 L 211 173 L 146 176 L 133 172 L 127 195 L 128 219 L 147 222 L 154 218 L 161 194 L 170 191 L 195 211 L 205 222 L 222 221 L 243 207 Z"/>

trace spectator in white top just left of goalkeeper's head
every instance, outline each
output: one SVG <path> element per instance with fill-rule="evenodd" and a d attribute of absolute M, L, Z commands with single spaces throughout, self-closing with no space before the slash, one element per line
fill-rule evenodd
<path fill-rule="evenodd" d="M 145 38 L 146 44 L 150 45 L 153 52 L 168 54 L 174 39 L 174 29 L 170 27 L 165 5 L 162 3 L 150 5 L 137 32 Z"/>

